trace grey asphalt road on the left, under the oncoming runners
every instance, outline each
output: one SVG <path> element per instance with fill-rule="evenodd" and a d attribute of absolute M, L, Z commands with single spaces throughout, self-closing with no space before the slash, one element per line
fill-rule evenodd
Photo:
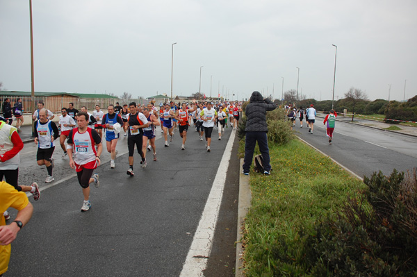
<path fill-rule="evenodd" d="M 181 151 L 178 131 L 169 147 L 163 147 L 157 131 L 158 160 L 154 162 L 148 152 L 148 166 L 142 169 L 135 153 L 134 177 L 126 175 L 129 164 L 122 137 L 115 169 L 110 169 L 110 155 L 105 150 L 102 154 L 102 165 L 96 170 L 101 186 L 92 186 L 88 212 L 80 212 L 81 187 L 68 158 L 60 158 L 63 151 L 57 145 L 54 183 L 58 185 L 42 190 L 39 201 L 30 198 L 35 211 L 13 242 L 5 277 L 179 276 L 231 134 L 231 128 L 226 130 L 221 141 L 213 130 L 211 153 L 206 152 L 194 128 L 188 132 L 185 151 Z M 222 230 L 216 230 L 208 262 L 211 276 L 234 275 L 237 147 L 236 139 L 231 164 L 224 169 L 231 174 L 227 175 L 224 191 L 228 194 L 218 220 Z M 46 169 L 36 165 L 35 153 L 35 144 L 25 144 L 19 183 L 37 181 L 46 187 Z M 10 214 L 14 216 L 15 211 Z"/>

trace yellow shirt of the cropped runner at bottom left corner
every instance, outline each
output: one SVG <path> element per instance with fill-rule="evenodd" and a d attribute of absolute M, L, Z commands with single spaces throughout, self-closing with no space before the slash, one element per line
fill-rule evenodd
<path fill-rule="evenodd" d="M 15 187 L 6 182 L 0 182 L 0 226 L 6 225 L 3 212 L 9 207 L 22 210 L 28 203 L 29 199 L 24 192 L 18 192 Z M 8 269 L 11 250 L 12 247 L 10 244 L 6 246 L 0 245 L 0 275 Z"/>

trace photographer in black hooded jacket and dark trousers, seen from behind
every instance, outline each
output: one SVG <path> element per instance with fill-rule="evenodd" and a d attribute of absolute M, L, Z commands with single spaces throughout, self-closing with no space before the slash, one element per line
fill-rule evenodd
<path fill-rule="evenodd" d="M 249 175 L 250 165 L 254 156 L 256 142 L 263 158 L 263 174 L 270 175 L 271 165 L 268 148 L 268 125 L 266 124 L 266 112 L 275 110 L 277 105 L 270 99 L 263 99 L 260 92 L 252 92 L 250 103 L 245 109 L 246 114 L 246 138 L 245 138 L 245 160 L 243 163 L 243 174 Z"/>

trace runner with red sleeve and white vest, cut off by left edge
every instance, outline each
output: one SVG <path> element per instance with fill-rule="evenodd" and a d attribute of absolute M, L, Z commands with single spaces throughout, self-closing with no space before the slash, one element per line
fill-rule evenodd
<path fill-rule="evenodd" d="M 0 181 L 3 180 L 3 177 L 6 178 L 6 182 L 13 185 L 17 191 L 31 192 L 33 200 L 37 201 L 40 198 L 37 183 L 33 183 L 31 186 L 18 185 L 19 152 L 23 149 L 23 142 L 17 133 L 17 129 L 4 121 L 0 121 L 0 145 L 2 145 L 0 148 Z M 3 215 L 6 220 L 10 219 L 7 210 L 3 212 Z"/>

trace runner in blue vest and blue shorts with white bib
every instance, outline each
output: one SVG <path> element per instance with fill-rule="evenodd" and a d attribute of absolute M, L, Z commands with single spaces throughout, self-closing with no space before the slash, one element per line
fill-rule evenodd
<path fill-rule="evenodd" d="M 124 123 L 122 117 L 116 115 L 113 105 L 108 105 L 107 111 L 108 113 L 104 115 L 101 124 L 106 128 L 106 146 L 108 153 L 111 153 L 110 168 L 115 168 L 116 146 L 120 134 L 115 134 L 113 125 L 119 123 L 120 126 L 123 126 Z"/>

